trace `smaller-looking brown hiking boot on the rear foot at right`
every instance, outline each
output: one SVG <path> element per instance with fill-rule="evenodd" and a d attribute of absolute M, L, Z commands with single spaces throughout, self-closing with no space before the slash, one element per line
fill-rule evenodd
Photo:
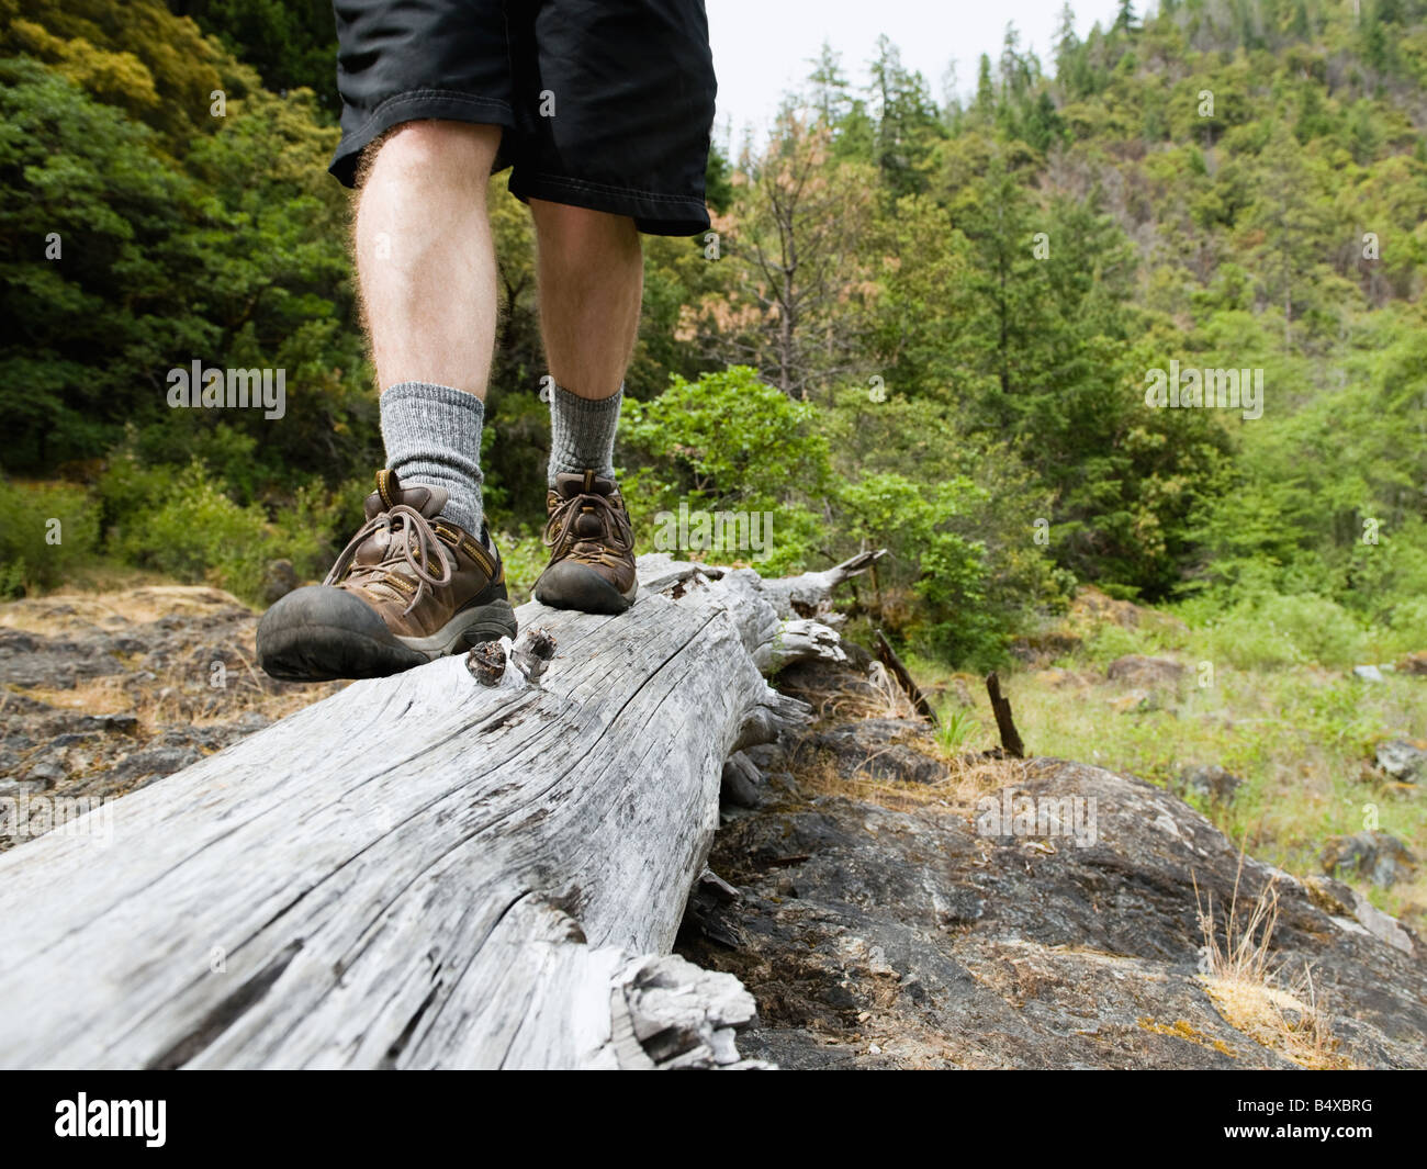
<path fill-rule="evenodd" d="M 629 608 L 639 582 L 629 512 L 615 481 L 594 471 L 555 475 L 545 511 L 549 564 L 535 582 L 535 599 L 581 612 Z"/>

